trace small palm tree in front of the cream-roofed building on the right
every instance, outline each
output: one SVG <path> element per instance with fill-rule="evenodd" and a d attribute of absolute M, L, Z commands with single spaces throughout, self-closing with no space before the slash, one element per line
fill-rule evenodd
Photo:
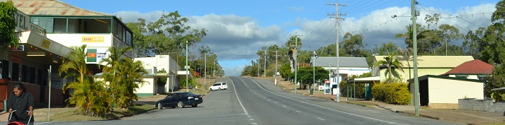
<path fill-rule="evenodd" d="M 386 71 L 385 71 L 385 76 L 388 76 L 387 81 L 391 81 L 391 76 L 395 76 L 399 78 L 399 74 L 395 69 L 399 69 L 400 71 L 403 72 L 403 64 L 398 61 L 398 59 L 393 59 L 397 52 L 392 52 L 392 54 L 387 54 L 387 56 L 384 57 L 384 60 L 377 61 L 377 64 L 375 66 L 386 66 Z"/>

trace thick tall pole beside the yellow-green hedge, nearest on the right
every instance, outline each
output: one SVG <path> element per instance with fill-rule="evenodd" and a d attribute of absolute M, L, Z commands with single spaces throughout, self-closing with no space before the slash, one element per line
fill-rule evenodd
<path fill-rule="evenodd" d="M 419 117 L 419 78 L 417 78 L 417 24 L 416 0 L 412 0 L 412 41 L 414 42 L 414 108 Z"/>

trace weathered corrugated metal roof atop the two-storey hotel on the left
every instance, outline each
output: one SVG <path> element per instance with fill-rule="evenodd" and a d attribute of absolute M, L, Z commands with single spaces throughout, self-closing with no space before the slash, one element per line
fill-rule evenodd
<path fill-rule="evenodd" d="M 8 1 L 8 0 L 0 0 Z M 28 15 L 50 16 L 111 16 L 107 13 L 89 11 L 59 0 L 11 0 L 19 11 Z"/>

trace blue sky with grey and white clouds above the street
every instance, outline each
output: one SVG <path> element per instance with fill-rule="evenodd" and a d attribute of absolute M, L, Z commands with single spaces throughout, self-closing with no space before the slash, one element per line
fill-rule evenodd
<path fill-rule="evenodd" d="M 335 20 L 327 16 L 335 13 L 336 1 L 319 0 L 243 0 L 243 1 L 166 1 L 166 0 L 62 0 L 72 6 L 91 11 L 109 13 L 123 18 L 125 23 L 144 18 L 159 19 L 162 13 L 178 11 L 190 19 L 192 28 L 207 29 L 208 36 L 198 46 L 209 46 L 217 54 L 227 76 L 239 76 L 251 60 L 257 58 L 261 47 L 282 46 L 289 35 L 302 34 L 302 49 L 317 49 L 336 41 Z M 426 24 L 426 14 L 441 13 L 438 24 L 455 25 L 460 32 L 489 25 L 494 4 L 498 0 L 418 0 L 421 11 L 417 21 Z M 406 32 L 409 18 L 391 18 L 392 15 L 409 16 L 409 0 L 340 0 L 339 39 L 344 32 L 362 34 L 365 49 L 375 44 L 392 41 L 404 47 L 395 34 Z M 454 18 L 458 16 L 459 18 Z M 461 44 L 458 42 L 451 44 Z"/>

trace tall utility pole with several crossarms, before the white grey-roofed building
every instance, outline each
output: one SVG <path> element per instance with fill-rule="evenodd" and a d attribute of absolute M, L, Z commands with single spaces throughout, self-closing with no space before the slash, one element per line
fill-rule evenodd
<path fill-rule="evenodd" d="M 339 20 L 344 20 L 344 18 L 339 18 L 339 16 L 346 16 L 346 14 L 341 14 L 339 13 L 339 6 L 347 6 L 347 4 L 339 4 L 339 2 L 335 2 L 335 4 L 328 4 L 327 5 L 332 5 L 335 6 L 336 13 L 335 14 L 328 14 L 328 16 L 335 16 L 331 18 L 335 18 L 336 20 L 336 102 L 340 102 L 340 66 L 339 66 Z"/>

